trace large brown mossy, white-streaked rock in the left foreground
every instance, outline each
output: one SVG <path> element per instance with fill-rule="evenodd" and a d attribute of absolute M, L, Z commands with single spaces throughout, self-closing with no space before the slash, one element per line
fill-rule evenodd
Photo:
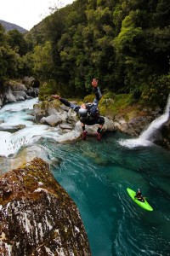
<path fill-rule="evenodd" d="M 0 179 L 0 255 L 91 255 L 77 206 L 35 158 Z"/>

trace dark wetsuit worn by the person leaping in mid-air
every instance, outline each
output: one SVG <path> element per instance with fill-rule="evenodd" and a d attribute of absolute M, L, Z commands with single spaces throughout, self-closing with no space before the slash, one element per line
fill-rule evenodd
<path fill-rule="evenodd" d="M 90 103 L 86 104 L 88 108 L 88 115 L 86 117 L 81 117 L 80 121 L 85 125 L 95 125 L 95 124 L 104 125 L 105 119 L 103 116 L 99 115 L 99 109 L 98 109 L 99 100 L 101 99 L 101 96 L 102 96 L 101 91 L 99 90 L 99 87 L 94 87 L 94 93 L 95 93 L 94 102 L 91 104 Z M 81 108 L 81 106 L 77 106 L 76 104 L 68 102 L 67 100 L 62 98 L 60 98 L 59 101 L 65 104 L 65 106 L 72 108 L 77 113 L 78 113 L 78 110 Z"/>

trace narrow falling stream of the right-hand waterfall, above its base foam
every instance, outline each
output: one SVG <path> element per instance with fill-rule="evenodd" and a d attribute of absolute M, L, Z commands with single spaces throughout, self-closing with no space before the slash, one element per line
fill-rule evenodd
<path fill-rule="evenodd" d="M 158 131 L 161 126 L 167 122 L 167 120 L 170 118 L 170 95 L 167 98 L 167 106 L 165 108 L 164 113 L 155 119 L 150 126 L 142 132 L 142 134 L 139 136 L 139 139 L 144 139 L 146 141 L 154 141 L 154 134 L 156 131 Z"/>

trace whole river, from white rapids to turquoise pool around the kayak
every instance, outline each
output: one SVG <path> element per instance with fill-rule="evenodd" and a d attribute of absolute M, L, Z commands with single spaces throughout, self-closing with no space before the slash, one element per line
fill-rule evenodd
<path fill-rule="evenodd" d="M 23 144 L 46 148 L 54 177 L 81 213 L 93 256 L 170 255 L 170 152 L 154 143 L 131 143 L 133 137 L 118 132 L 105 134 L 101 142 L 88 137 L 71 145 L 55 143 L 57 130 L 31 121 L 36 101 L 0 110 L 0 126 L 26 125 L 14 134 L 0 131 L 0 154 L 14 154 Z M 154 211 L 135 204 L 127 187 L 140 188 Z"/>

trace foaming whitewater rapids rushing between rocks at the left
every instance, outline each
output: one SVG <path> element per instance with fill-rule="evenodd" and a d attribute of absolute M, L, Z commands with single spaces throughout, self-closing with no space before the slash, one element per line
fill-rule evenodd
<path fill-rule="evenodd" d="M 48 125 L 37 125 L 32 120 L 31 111 L 33 105 L 38 103 L 38 98 L 26 100 L 25 102 L 14 102 L 5 105 L 0 109 L 0 127 L 26 125 L 14 133 L 0 131 L 0 155 L 8 157 L 16 153 L 22 146 L 36 143 L 40 137 L 53 137 L 58 135 L 57 128 Z"/>

